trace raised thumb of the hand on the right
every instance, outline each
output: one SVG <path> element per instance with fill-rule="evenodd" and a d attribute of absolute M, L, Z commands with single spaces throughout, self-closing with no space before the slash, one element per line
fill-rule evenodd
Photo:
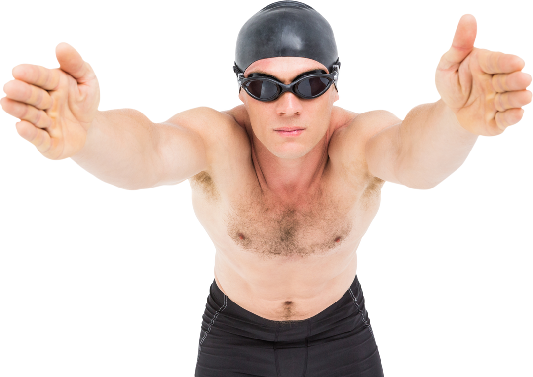
<path fill-rule="evenodd" d="M 474 49 L 479 35 L 479 21 L 473 13 L 461 14 L 451 36 L 450 46 L 443 56 L 447 66 L 461 63 Z"/>

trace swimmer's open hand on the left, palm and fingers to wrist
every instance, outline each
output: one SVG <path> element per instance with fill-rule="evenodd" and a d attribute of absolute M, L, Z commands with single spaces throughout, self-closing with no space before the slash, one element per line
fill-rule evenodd
<path fill-rule="evenodd" d="M 102 103 L 100 79 L 76 47 L 54 47 L 59 67 L 21 62 L 2 86 L 0 107 L 15 122 L 18 136 L 49 161 L 65 161 L 85 145 Z"/>

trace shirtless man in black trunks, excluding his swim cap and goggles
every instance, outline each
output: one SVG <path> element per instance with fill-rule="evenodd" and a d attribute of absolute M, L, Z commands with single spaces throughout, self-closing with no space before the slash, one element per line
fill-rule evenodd
<path fill-rule="evenodd" d="M 217 251 L 197 377 L 378 376 L 357 272 L 385 183 L 439 186 L 479 137 L 520 123 L 532 101 L 524 60 L 474 47 L 477 32 L 474 15 L 463 14 L 435 69 L 439 100 L 403 119 L 335 106 L 336 83 L 326 80 L 312 99 L 285 92 L 261 101 L 241 87 L 243 103 L 230 110 L 195 107 L 152 122 L 134 108 L 100 110 L 98 76 L 66 42 L 54 50 L 58 68 L 16 65 L 0 105 L 41 156 L 70 159 L 110 186 L 135 192 L 188 181 Z M 239 68 L 289 85 L 331 67 L 287 55 Z"/>

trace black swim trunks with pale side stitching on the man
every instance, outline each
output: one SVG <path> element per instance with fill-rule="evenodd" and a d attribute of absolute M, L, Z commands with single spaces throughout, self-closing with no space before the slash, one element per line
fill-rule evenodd
<path fill-rule="evenodd" d="M 195 377 L 384 377 L 359 276 L 314 317 L 281 324 L 253 314 L 209 284 Z"/>

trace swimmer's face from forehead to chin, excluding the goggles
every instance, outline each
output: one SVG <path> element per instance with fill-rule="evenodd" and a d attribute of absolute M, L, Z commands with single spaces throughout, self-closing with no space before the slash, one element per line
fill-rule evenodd
<path fill-rule="evenodd" d="M 327 68 L 316 60 L 279 57 L 257 60 L 250 65 L 244 77 L 251 73 L 263 73 L 276 77 L 284 84 L 293 82 L 296 76 Z M 313 99 L 303 99 L 285 92 L 274 101 L 258 101 L 245 90 L 239 93 L 244 103 L 252 130 L 259 141 L 279 158 L 294 159 L 308 154 L 324 138 L 330 126 L 333 105 L 341 99 L 332 84 L 326 93 Z M 276 130 L 281 127 L 298 127 L 304 131 L 295 137 L 286 137 Z"/>

